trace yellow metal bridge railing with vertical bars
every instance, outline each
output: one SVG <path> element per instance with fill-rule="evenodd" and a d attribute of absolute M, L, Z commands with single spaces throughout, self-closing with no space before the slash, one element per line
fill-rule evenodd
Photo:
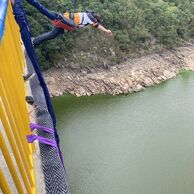
<path fill-rule="evenodd" d="M 6 194 L 13 193 L 10 185 L 15 185 L 19 194 L 36 193 L 34 147 L 26 141 L 30 130 L 22 76 L 24 68 L 19 29 L 9 5 L 0 43 L 0 160 L 6 163 L 5 168 L 0 165 L 0 188 Z"/>

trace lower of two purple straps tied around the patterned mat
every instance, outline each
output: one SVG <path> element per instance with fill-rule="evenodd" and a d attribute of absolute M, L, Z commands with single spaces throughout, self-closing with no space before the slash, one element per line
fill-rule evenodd
<path fill-rule="evenodd" d="M 57 150 L 58 150 L 58 146 L 57 146 L 57 144 L 54 140 L 51 140 L 51 139 L 48 139 L 48 138 L 45 138 L 45 137 L 40 137 L 40 136 L 33 135 L 33 134 L 32 135 L 27 135 L 26 138 L 27 138 L 28 143 L 32 143 L 35 140 L 38 140 L 39 142 L 44 143 L 46 145 L 56 147 Z"/>

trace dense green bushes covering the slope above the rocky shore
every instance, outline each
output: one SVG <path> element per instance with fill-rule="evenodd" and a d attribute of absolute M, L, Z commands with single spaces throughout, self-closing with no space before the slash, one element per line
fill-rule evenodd
<path fill-rule="evenodd" d="M 71 0 L 40 2 L 57 12 L 93 9 L 114 34 L 110 38 L 96 29 L 81 29 L 48 41 L 37 49 L 43 69 L 58 63 L 114 64 L 129 54 L 171 48 L 194 36 L 192 0 L 80 0 L 76 8 Z M 25 8 L 33 36 L 51 30 L 45 16 L 27 3 Z"/>

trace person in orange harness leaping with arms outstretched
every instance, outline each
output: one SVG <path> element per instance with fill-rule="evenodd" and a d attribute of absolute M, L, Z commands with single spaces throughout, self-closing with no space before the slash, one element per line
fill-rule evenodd
<path fill-rule="evenodd" d="M 86 12 L 70 13 L 65 12 L 59 14 L 59 19 L 52 20 L 53 28 L 49 32 L 45 32 L 32 39 L 33 45 L 36 47 L 41 43 L 56 38 L 59 34 L 63 34 L 64 31 L 74 31 L 79 28 L 84 28 L 88 25 L 97 28 L 108 35 L 112 35 L 111 30 L 102 26 L 100 16 L 95 14 L 94 11 L 87 10 Z"/>

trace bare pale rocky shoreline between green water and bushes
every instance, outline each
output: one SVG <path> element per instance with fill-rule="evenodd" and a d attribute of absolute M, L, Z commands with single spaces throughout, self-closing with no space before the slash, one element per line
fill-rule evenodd
<path fill-rule="evenodd" d="M 180 70 L 194 70 L 194 44 L 160 54 L 128 59 L 108 68 L 72 70 L 52 68 L 44 72 L 52 96 L 127 94 L 176 77 Z"/>

